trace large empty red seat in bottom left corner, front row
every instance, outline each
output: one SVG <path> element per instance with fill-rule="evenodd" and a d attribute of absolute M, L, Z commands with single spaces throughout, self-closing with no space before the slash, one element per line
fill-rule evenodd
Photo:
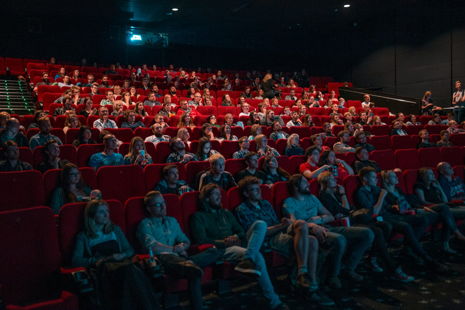
<path fill-rule="evenodd" d="M 0 279 L 6 309 L 78 310 L 77 297 L 61 290 L 61 255 L 52 209 L 0 212 L 0 222 Z"/>

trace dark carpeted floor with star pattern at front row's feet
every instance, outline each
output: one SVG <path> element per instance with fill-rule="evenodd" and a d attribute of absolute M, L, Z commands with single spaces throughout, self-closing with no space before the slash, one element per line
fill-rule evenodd
<path fill-rule="evenodd" d="M 336 304 L 323 307 L 299 298 L 291 289 L 286 276 L 273 280 L 276 292 L 281 300 L 292 310 L 304 309 L 343 309 L 343 310 L 397 310 L 397 309 L 465 309 L 465 243 L 451 240 L 451 247 L 457 254 L 444 254 L 440 249 L 440 242 L 424 241 L 424 249 L 436 260 L 447 264 L 450 270 L 437 275 L 424 265 L 416 263 L 402 263 L 403 257 L 398 253 L 401 243 L 391 244 L 390 252 L 408 275 L 415 277 L 411 283 L 403 284 L 388 277 L 386 272 L 374 273 L 367 270 L 362 262 L 357 272 L 365 277 L 361 283 L 351 283 L 343 278 L 342 289 L 325 291 Z M 384 264 L 378 259 L 379 265 Z M 273 270 L 270 274 L 272 274 Z M 233 294 L 219 297 L 214 293 L 204 297 L 204 309 L 238 310 L 238 309 L 268 309 L 267 301 L 261 293 L 260 287 L 248 280 L 239 278 L 233 283 Z M 188 303 L 181 303 L 178 309 L 189 309 Z"/>

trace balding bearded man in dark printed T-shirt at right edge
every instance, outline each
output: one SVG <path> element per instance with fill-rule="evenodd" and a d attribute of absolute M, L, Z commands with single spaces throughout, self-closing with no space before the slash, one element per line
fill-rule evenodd
<path fill-rule="evenodd" d="M 447 201 L 465 200 L 465 185 L 461 178 L 454 176 L 452 166 L 440 162 L 436 167 L 439 172 L 438 183 L 447 196 Z"/>

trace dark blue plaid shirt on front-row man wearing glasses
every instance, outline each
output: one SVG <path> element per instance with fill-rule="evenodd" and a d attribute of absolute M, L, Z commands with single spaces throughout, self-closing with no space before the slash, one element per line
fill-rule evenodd
<path fill-rule="evenodd" d="M 264 221 L 268 227 L 279 224 L 278 217 L 272 205 L 263 199 L 259 201 L 258 207 L 248 201 L 239 204 L 236 208 L 236 217 L 245 231 L 248 231 L 250 226 L 256 221 Z M 270 237 L 272 236 L 267 236 L 267 238 Z"/>

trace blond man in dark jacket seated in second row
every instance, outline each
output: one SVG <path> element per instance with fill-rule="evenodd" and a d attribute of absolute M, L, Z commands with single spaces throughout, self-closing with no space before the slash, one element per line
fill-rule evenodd
<path fill-rule="evenodd" d="M 210 162 L 211 171 L 206 171 L 200 176 L 199 191 L 207 184 L 214 183 L 219 188 L 229 191 L 230 188 L 237 186 L 231 173 L 225 171 L 226 159 L 221 154 L 212 154 L 208 158 Z"/>

